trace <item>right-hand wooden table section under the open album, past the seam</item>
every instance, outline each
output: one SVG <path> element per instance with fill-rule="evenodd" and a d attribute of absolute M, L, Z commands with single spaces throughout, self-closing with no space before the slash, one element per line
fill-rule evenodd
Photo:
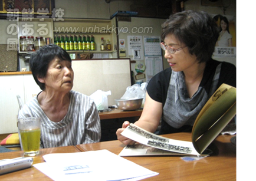
<path fill-rule="evenodd" d="M 191 133 L 166 134 L 171 139 L 191 141 Z M 237 180 L 237 146 L 231 143 L 232 136 L 219 136 L 214 144 L 218 155 L 195 162 L 185 162 L 179 156 L 125 157 L 140 166 L 146 167 L 158 176 L 146 180 Z M 124 145 L 119 141 L 107 141 L 77 146 L 81 151 L 107 149 L 119 154 Z"/>

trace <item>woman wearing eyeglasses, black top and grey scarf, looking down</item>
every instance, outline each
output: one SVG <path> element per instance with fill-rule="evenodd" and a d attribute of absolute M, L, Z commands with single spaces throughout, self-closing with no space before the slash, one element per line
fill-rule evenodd
<path fill-rule="evenodd" d="M 237 87 L 237 68 L 212 60 L 219 29 L 206 12 L 184 11 L 171 15 L 162 25 L 160 44 L 170 68 L 155 75 L 147 85 L 146 102 L 137 126 L 159 134 L 192 131 L 196 117 L 222 84 Z M 122 136 L 125 121 L 117 130 L 124 144 L 133 140 Z"/>

